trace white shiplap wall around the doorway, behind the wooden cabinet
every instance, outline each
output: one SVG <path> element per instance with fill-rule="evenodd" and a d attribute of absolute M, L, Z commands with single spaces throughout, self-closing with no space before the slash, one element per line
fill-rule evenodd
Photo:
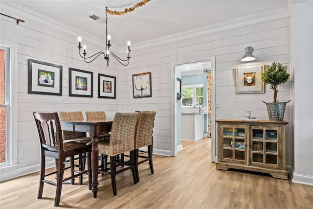
<path fill-rule="evenodd" d="M 246 46 L 254 47 L 255 62 L 240 61 Z M 268 119 L 266 105 L 271 102 L 273 93 L 266 87 L 266 93 L 235 94 L 235 67 L 245 64 L 273 61 L 290 64 L 290 19 L 282 18 L 264 23 L 256 23 L 235 29 L 210 33 L 182 41 L 156 46 L 133 49 L 131 64 L 122 66 L 121 105 L 122 111 L 155 110 L 154 148 L 171 150 L 171 63 L 178 60 L 194 60 L 216 56 L 216 119 L 240 118 L 245 110 L 259 119 Z M 132 74 L 152 73 L 152 97 L 137 98 L 132 96 Z M 290 82 L 279 87 L 278 99 L 287 101 L 291 98 Z M 284 119 L 290 121 L 291 107 L 287 105 Z M 287 125 L 287 164 L 291 164 L 291 127 Z"/>

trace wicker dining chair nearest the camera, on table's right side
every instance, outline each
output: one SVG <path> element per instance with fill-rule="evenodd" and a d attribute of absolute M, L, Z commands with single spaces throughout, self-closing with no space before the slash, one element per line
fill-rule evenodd
<path fill-rule="evenodd" d="M 132 169 L 134 184 L 137 183 L 134 167 L 134 137 L 137 119 L 138 113 L 116 113 L 112 123 L 110 141 L 99 141 L 98 144 L 99 153 L 110 156 L 110 168 L 99 169 L 99 173 L 111 175 L 114 196 L 117 194 L 115 175 Z M 116 156 L 124 152 L 130 152 L 130 164 L 116 170 Z"/>

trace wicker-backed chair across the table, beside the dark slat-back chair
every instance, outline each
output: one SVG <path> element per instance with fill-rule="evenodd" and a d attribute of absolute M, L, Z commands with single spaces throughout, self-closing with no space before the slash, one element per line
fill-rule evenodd
<path fill-rule="evenodd" d="M 83 113 L 80 111 L 77 112 L 60 112 L 59 113 L 61 121 L 70 121 L 70 120 L 83 120 Z M 78 142 L 78 143 L 90 143 L 91 137 L 87 137 L 86 132 L 78 131 L 62 131 L 63 142 Z M 77 160 L 76 158 L 74 161 Z M 75 164 L 76 167 L 79 167 L 79 170 L 82 171 L 85 169 L 86 157 L 85 154 L 80 154 L 78 157 L 79 163 Z M 68 161 L 65 161 L 68 163 Z M 82 184 L 83 176 L 79 177 L 79 183 Z"/>

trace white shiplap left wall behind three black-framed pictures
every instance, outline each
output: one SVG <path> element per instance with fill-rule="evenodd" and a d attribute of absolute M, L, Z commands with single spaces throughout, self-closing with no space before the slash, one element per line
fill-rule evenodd
<path fill-rule="evenodd" d="M 119 110 L 119 64 L 110 60 L 106 66 L 98 59 L 86 64 L 78 54 L 77 37 L 62 30 L 33 21 L 11 11 L 7 13 L 25 20 L 19 25 L 12 19 L 0 16 L 0 44 L 11 43 L 16 47 L 17 65 L 17 170 L 14 174 L 1 170 L 1 179 L 39 170 L 40 147 L 33 112 L 97 111 L 105 110 L 107 116 L 114 116 Z M 89 54 L 103 48 L 86 42 Z M 34 59 L 63 66 L 63 95 L 28 94 L 28 59 Z M 15 61 L 13 61 L 14 64 Z M 93 72 L 93 98 L 68 96 L 68 68 Z M 116 99 L 98 98 L 98 73 L 116 76 Z M 21 148 L 27 149 L 27 156 L 21 157 Z"/>

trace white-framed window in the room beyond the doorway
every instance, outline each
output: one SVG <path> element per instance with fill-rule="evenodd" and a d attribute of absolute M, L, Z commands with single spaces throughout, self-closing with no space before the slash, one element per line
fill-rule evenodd
<path fill-rule="evenodd" d="M 182 106 L 203 106 L 203 85 L 182 86 Z"/>

